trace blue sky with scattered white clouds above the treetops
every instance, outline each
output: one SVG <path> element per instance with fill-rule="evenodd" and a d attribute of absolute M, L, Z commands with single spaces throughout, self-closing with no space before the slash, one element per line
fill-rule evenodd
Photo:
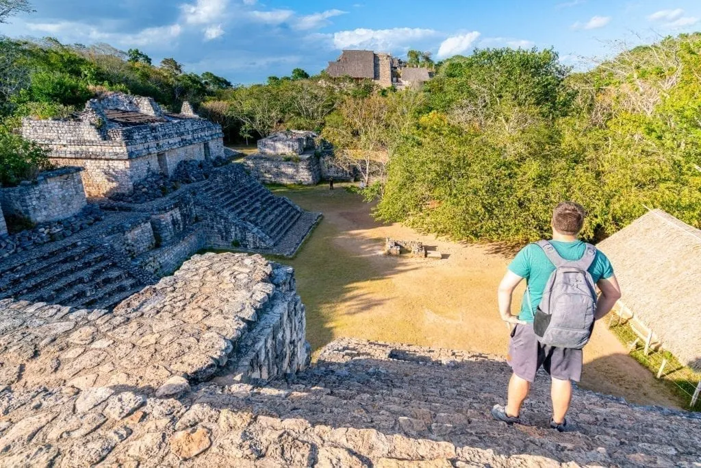
<path fill-rule="evenodd" d="M 295 67 L 311 74 L 343 48 L 435 58 L 475 47 L 554 46 L 567 65 L 701 29 L 698 0 L 33 0 L 0 34 L 139 48 L 233 83 Z"/>

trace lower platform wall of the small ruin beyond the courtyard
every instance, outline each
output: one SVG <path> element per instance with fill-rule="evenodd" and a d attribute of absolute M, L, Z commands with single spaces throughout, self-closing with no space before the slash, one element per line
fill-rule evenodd
<path fill-rule="evenodd" d="M 321 180 L 319 157 L 315 154 L 301 156 L 265 156 L 252 154 L 243 160 L 254 178 L 264 184 L 316 185 Z"/>

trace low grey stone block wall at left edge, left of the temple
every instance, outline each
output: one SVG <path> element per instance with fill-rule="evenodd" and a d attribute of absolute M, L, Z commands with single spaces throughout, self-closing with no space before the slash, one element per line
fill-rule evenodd
<path fill-rule="evenodd" d="M 69 218 L 86 206 L 82 168 L 67 167 L 39 174 L 36 180 L 18 187 L 0 189 L 0 204 L 6 215 L 21 216 L 39 223 Z"/>

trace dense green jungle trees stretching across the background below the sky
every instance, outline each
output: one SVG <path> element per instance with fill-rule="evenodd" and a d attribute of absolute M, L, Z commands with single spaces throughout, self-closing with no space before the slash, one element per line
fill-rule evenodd
<path fill-rule="evenodd" d="M 379 198 L 377 217 L 453 239 L 538 239 L 562 199 L 589 211 L 587 239 L 646 207 L 701 227 L 700 53 L 701 35 L 686 34 L 574 73 L 550 49 L 484 49 L 438 62 L 421 89 L 394 91 L 301 69 L 238 86 L 137 49 L 3 38 L 0 182 L 41 166 L 13 133 L 22 116 L 67 116 L 114 90 L 170 109 L 189 100 L 230 141 L 320 131 Z"/>

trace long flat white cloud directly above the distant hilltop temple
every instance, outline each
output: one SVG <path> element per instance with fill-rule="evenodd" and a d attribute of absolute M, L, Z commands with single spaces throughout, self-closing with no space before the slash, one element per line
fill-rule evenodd
<path fill-rule="evenodd" d="M 339 31 L 333 35 L 335 48 L 369 48 L 376 51 L 393 51 L 411 46 L 412 42 L 439 34 L 434 29 L 395 27 L 393 29 L 358 28 Z"/>

